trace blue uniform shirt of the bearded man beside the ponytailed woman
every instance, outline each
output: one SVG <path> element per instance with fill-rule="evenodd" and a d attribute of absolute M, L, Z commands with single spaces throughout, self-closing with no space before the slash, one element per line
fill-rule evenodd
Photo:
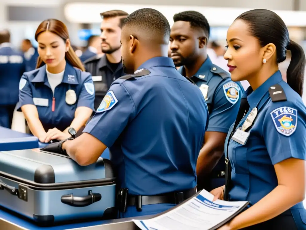
<path fill-rule="evenodd" d="M 184 67 L 178 71 L 185 75 Z M 200 87 L 211 108 L 207 131 L 227 133 L 236 119 L 244 93 L 240 82 L 233 82 L 229 73 L 214 65 L 209 57 L 194 76 L 188 77 Z"/>

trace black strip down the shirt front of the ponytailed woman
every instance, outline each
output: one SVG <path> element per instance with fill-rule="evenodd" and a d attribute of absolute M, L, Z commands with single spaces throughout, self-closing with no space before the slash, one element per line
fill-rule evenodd
<path fill-rule="evenodd" d="M 241 98 L 240 107 L 239 107 L 239 111 L 238 111 L 238 114 L 237 114 L 237 118 L 236 118 L 233 130 L 230 133 L 229 139 L 227 140 L 226 153 L 224 154 L 225 155 L 225 191 L 224 191 L 224 198 L 223 199 L 225 201 L 229 200 L 229 192 L 233 187 L 232 166 L 230 164 L 230 160 L 229 160 L 229 157 L 228 157 L 230 139 L 234 135 L 238 124 L 240 123 L 240 121 L 242 120 L 244 115 L 248 112 L 249 108 L 250 108 L 250 105 L 248 104 L 247 98 Z"/>

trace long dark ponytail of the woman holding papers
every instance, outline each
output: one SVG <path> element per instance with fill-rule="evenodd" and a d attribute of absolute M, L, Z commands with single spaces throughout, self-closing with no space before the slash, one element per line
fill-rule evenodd
<path fill-rule="evenodd" d="M 306 62 L 305 53 L 303 48 L 292 40 L 290 40 L 287 49 L 291 51 L 291 61 L 287 69 L 287 83 L 302 97 Z"/>

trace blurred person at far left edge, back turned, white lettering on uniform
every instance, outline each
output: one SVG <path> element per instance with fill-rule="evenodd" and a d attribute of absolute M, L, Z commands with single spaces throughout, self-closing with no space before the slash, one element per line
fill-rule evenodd
<path fill-rule="evenodd" d="M 18 85 L 24 71 L 23 55 L 12 48 L 9 31 L 0 31 L 0 126 L 12 126 Z"/>

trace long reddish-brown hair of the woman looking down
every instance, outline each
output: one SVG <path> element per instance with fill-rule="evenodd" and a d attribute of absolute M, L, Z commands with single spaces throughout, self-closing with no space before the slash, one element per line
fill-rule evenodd
<path fill-rule="evenodd" d="M 67 39 L 69 39 L 69 33 L 66 25 L 57 19 L 47 19 L 40 23 L 38 26 L 36 32 L 35 32 L 35 40 L 37 41 L 37 37 L 39 34 L 49 31 L 51 33 L 54 33 L 58 36 L 60 36 L 65 42 Z M 85 68 L 81 62 L 81 60 L 76 56 L 76 53 L 73 51 L 73 48 L 69 47 L 68 52 L 65 54 L 65 59 L 74 67 L 79 68 L 81 71 L 85 71 Z M 42 67 L 45 63 L 43 60 L 38 57 L 36 68 Z"/>

